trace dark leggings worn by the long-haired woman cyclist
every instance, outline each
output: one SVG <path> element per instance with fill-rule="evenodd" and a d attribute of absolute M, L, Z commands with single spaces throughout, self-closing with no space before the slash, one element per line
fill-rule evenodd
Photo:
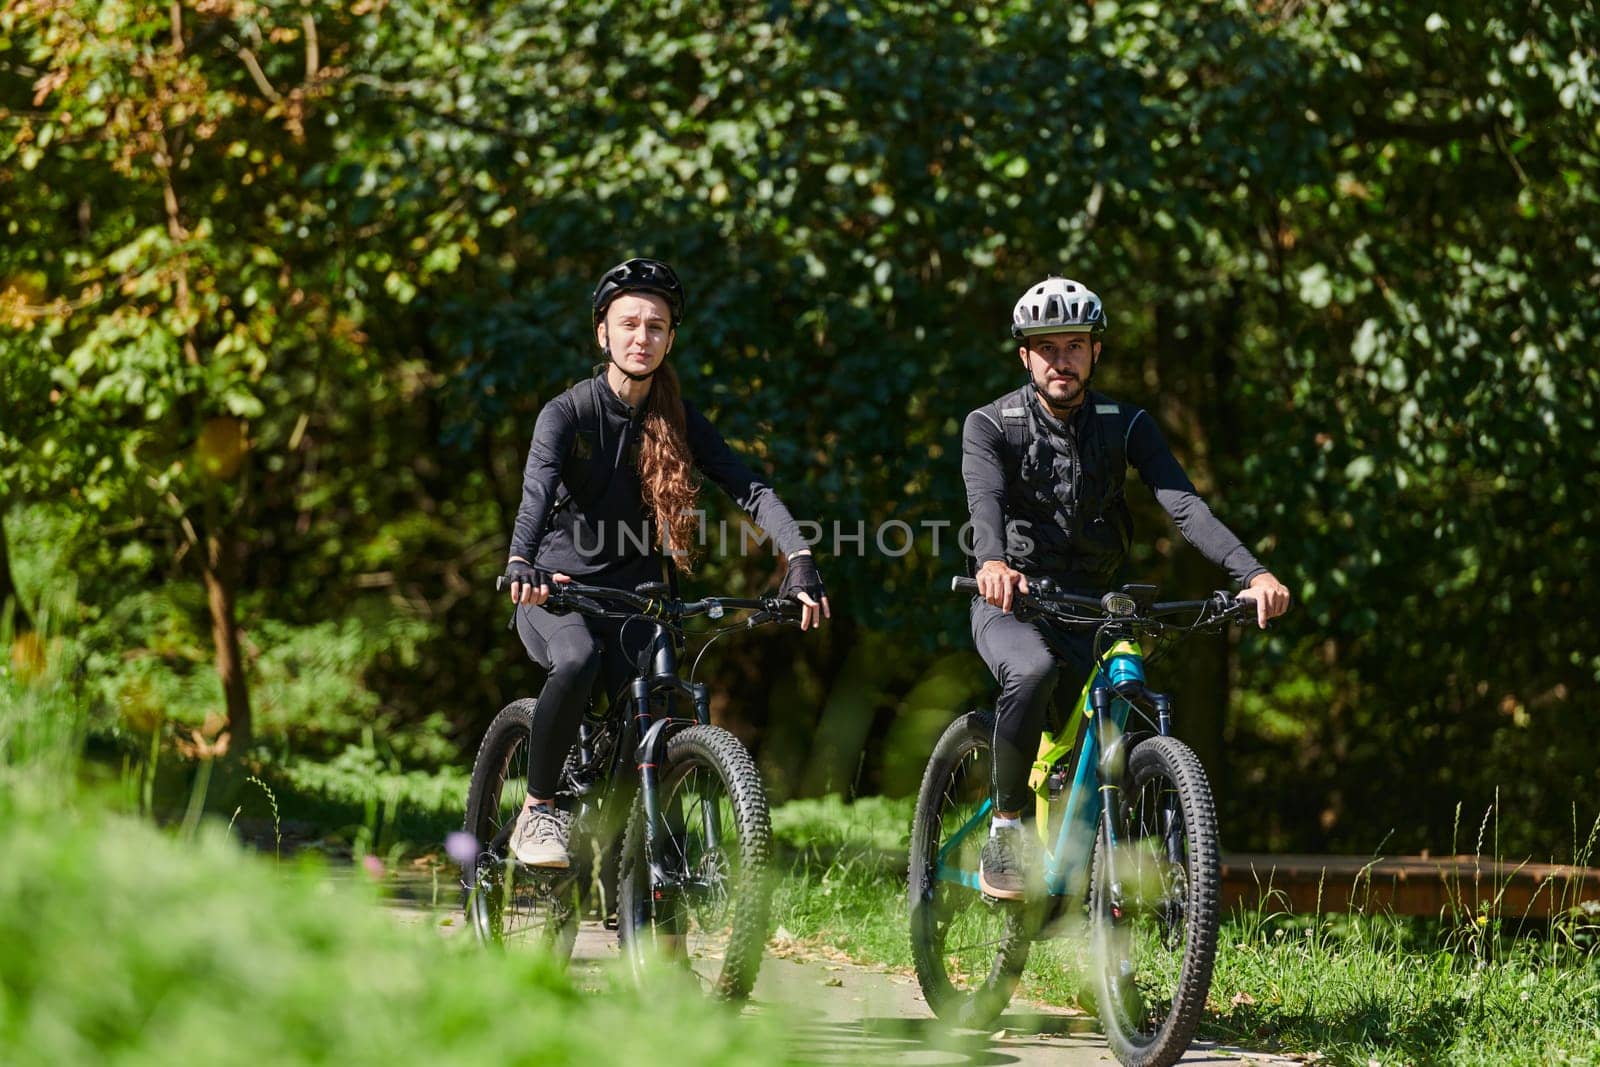
<path fill-rule="evenodd" d="M 606 694 L 616 701 L 618 691 L 637 673 L 635 659 L 653 633 L 654 627 L 643 622 L 626 625 L 622 619 L 550 614 L 531 605 L 517 608 L 517 635 L 528 656 L 550 672 L 534 704 L 530 731 L 528 792 L 534 798 L 555 795 L 562 761 L 578 741 L 578 723 L 595 680 L 603 677 Z"/>

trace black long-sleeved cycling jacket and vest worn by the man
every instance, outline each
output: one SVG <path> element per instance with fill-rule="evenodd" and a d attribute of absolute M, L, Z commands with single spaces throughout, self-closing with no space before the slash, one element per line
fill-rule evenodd
<path fill-rule="evenodd" d="M 1026 450 L 1013 445 L 1019 437 Z M 1189 544 L 1234 581 L 1243 585 L 1267 569 L 1200 499 L 1144 410 L 1090 392 L 1062 422 L 1032 384 L 978 408 L 962 430 L 973 565 L 1003 560 L 1066 589 L 1107 589 L 1133 533 L 1123 498 L 1130 466 Z"/>

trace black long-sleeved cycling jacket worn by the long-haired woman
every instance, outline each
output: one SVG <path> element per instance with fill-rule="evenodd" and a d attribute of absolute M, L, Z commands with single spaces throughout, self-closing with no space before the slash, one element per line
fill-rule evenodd
<path fill-rule="evenodd" d="M 694 405 L 685 402 L 683 411 L 694 467 L 784 555 L 806 547 L 778 493 L 750 472 Z M 659 574 L 661 549 L 638 482 L 643 416 L 643 406 L 613 392 L 603 370 L 539 410 L 510 555 L 590 582 L 614 577 L 630 585 Z"/>

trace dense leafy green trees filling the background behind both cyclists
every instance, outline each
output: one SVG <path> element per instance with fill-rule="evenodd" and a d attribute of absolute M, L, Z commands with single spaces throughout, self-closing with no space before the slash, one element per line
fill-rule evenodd
<path fill-rule="evenodd" d="M 1107 298 L 1098 384 L 1299 598 L 1237 672 L 1269 696 L 1181 720 L 1230 742 L 1235 845 L 1437 845 L 1502 785 L 1542 854 L 1600 789 L 1592 0 L 174 10 L 0 14 L 0 501 L 93 517 L 90 603 L 198 565 L 296 662 L 344 649 L 355 688 L 258 661 L 269 737 L 376 717 L 440 760 L 531 688 L 486 577 L 534 413 L 594 360 L 589 285 L 653 253 L 686 395 L 797 514 L 866 530 L 821 545 L 859 629 L 728 669 L 757 731 L 786 680 L 894 646 L 798 789 L 906 789 L 914 760 L 854 757 L 923 736 L 960 560 L 872 531 L 960 525 L 960 419 L 1016 381 L 1006 312 L 1048 269 Z M 1136 506 L 1130 576 L 1214 585 Z M 373 595 L 426 630 L 352 637 Z M 387 649 L 358 683 L 355 640 Z"/>

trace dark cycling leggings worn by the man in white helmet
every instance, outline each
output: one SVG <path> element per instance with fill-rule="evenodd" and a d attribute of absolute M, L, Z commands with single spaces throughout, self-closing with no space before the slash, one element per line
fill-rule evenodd
<path fill-rule="evenodd" d="M 973 641 L 989 664 L 1000 697 L 995 701 L 994 795 L 1000 811 L 1027 811 L 1032 792 L 1027 773 L 1038 753 L 1050 701 L 1059 689 L 1075 701 L 1093 667 L 1093 635 L 1050 627 L 1045 621 L 1022 622 L 973 597 Z"/>

